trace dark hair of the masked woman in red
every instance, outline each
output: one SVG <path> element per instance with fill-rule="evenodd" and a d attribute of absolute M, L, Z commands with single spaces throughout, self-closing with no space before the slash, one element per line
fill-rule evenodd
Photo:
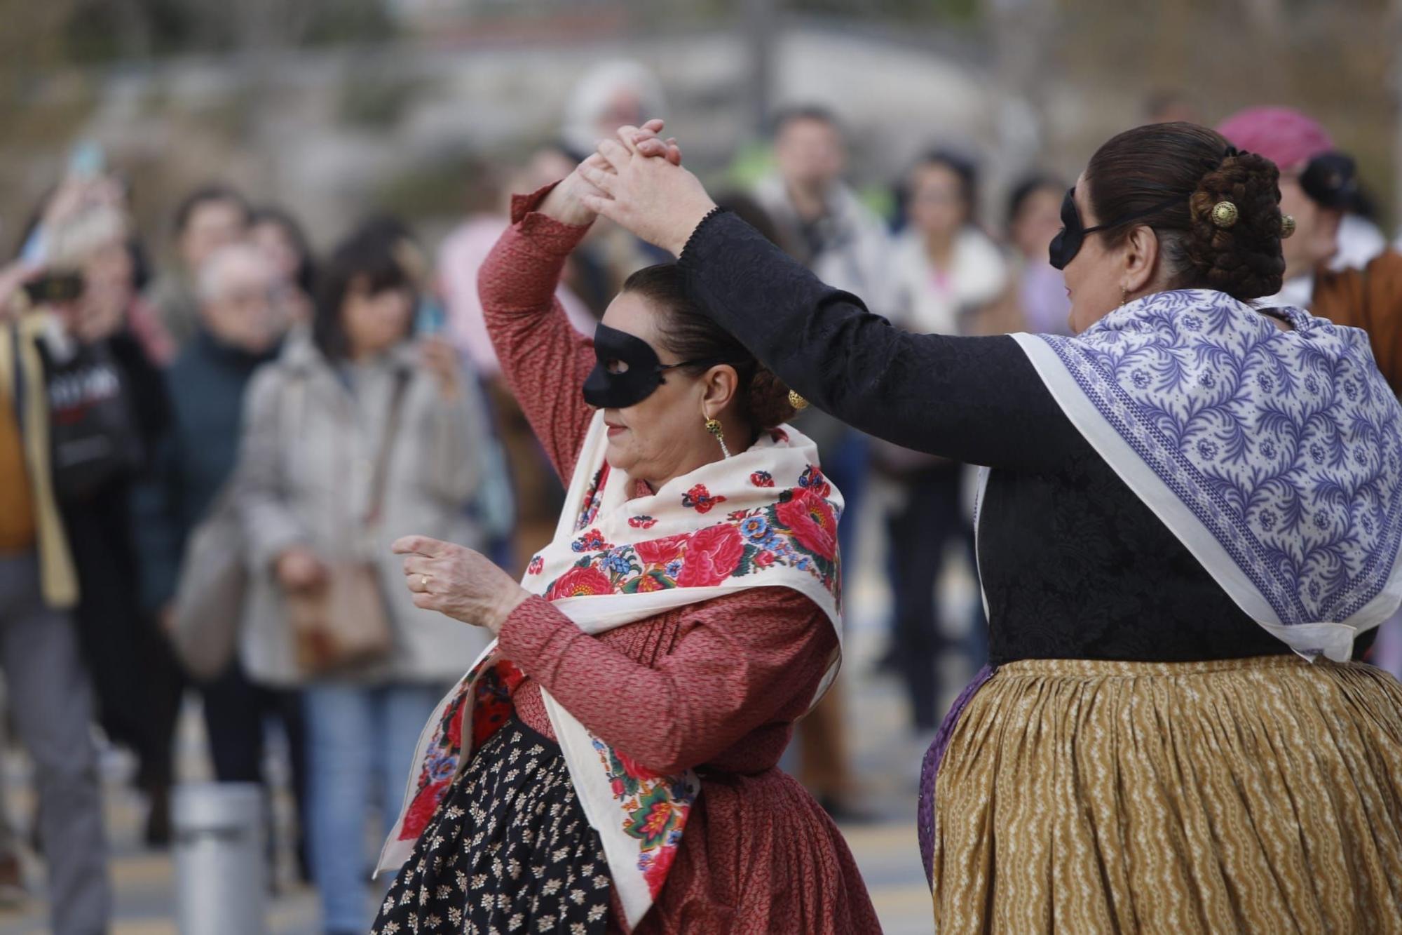
<path fill-rule="evenodd" d="M 712 321 L 687 295 L 681 268 L 659 263 L 628 277 L 624 292 L 653 303 L 660 314 L 658 340 L 683 361 L 723 361 L 740 378 L 737 403 L 740 418 L 756 430 L 774 428 L 794 418 L 788 386 L 761 365 L 735 337 Z M 688 368 L 701 371 L 704 368 Z"/>

